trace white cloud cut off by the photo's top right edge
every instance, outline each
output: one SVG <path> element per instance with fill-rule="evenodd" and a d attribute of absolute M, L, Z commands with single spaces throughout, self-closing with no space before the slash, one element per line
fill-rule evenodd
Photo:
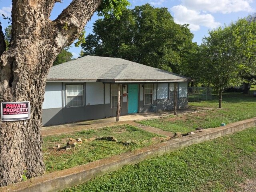
<path fill-rule="evenodd" d="M 239 11 L 252 12 L 253 0 L 182 0 L 182 5 L 190 10 L 223 14 Z"/>

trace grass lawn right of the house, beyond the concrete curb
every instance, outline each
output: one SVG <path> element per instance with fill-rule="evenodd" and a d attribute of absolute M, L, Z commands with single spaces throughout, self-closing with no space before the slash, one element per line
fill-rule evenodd
<path fill-rule="evenodd" d="M 216 97 L 214 100 L 190 102 L 188 105 L 209 107 L 214 108 L 214 110 L 138 122 L 165 131 L 186 133 L 198 127 L 218 127 L 221 123 L 229 124 L 256 116 L 256 98 L 252 94 L 224 93 L 222 109 L 218 109 L 218 99 Z"/>

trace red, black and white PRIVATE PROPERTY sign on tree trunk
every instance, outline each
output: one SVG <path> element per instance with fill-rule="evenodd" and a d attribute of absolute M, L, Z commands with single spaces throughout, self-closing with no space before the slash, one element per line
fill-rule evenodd
<path fill-rule="evenodd" d="M 1 120 L 18 121 L 30 118 L 30 102 L 2 102 Z"/>

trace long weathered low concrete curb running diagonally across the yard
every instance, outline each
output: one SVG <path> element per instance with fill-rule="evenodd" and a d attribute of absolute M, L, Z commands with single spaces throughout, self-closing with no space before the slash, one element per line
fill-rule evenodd
<path fill-rule="evenodd" d="M 0 192 L 48 192 L 61 190 L 81 184 L 87 180 L 90 180 L 91 178 L 103 175 L 107 172 L 117 170 L 124 165 L 136 164 L 148 158 L 160 156 L 162 154 L 166 154 L 192 144 L 218 138 L 226 134 L 232 134 L 252 126 L 256 126 L 256 117 L 231 123 L 226 126 L 208 128 L 196 134 L 168 140 L 166 142 L 135 150 L 134 152 L 126 152 L 124 154 L 104 158 L 88 164 L 76 166 L 74 168 L 44 174 L 24 182 L 1 187 Z"/>

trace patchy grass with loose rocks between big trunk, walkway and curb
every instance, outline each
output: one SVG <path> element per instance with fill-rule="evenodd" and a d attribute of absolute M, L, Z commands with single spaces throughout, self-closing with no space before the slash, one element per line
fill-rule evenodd
<path fill-rule="evenodd" d="M 100 136 L 114 136 L 118 141 L 136 140 L 139 144 L 131 144 L 124 146 L 117 142 L 106 140 L 94 140 L 90 142 L 83 142 L 78 144 L 76 148 L 71 150 L 50 150 L 49 147 L 60 144 L 66 146 L 68 138 L 96 138 Z M 109 157 L 115 154 L 120 154 L 130 150 L 135 150 L 152 144 L 150 140 L 154 136 L 160 136 L 146 132 L 139 128 L 130 125 L 113 126 L 100 128 L 97 130 L 85 130 L 72 134 L 62 134 L 55 136 L 47 136 L 43 138 L 43 154 L 44 163 L 46 164 L 46 172 L 53 172 L 56 170 L 63 170 L 86 164 L 98 159 Z M 148 142 L 143 141 L 148 140 Z"/>

